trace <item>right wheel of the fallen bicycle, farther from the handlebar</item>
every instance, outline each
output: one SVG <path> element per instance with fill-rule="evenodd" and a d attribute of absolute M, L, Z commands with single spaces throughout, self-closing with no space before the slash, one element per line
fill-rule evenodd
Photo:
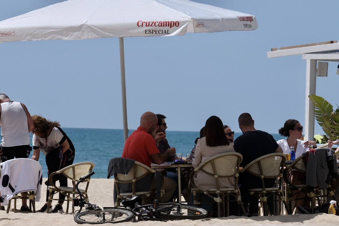
<path fill-rule="evenodd" d="M 158 210 L 158 214 L 167 219 L 198 220 L 207 216 L 207 211 L 202 208 L 180 203 L 160 203 Z"/>

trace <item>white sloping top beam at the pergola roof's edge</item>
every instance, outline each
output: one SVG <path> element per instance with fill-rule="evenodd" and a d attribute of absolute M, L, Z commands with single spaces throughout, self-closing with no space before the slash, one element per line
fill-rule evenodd
<path fill-rule="evenodd" d="M 300 47 L 300 48 L 294 48 L 294 49 L 284 49 L 284 50 L 267 52 L 267 58 L 301 55 L 301 54 L 306 54 L 306 53 L 317 53 L 317 52 L 332 51 L 332 50 L 339 50 L 339 43 L 315 45 L 315 46 L 307 46 L 307 47 Z"/>

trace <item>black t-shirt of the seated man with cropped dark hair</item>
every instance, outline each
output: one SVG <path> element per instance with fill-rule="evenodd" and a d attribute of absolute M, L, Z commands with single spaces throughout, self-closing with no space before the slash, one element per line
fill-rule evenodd
<path fill-rule="evenodd" d="M 278 147 L 279 145 L 273 136 L 261 130 L 247 131 L 234 141 L 234 150 L 242 155 L 241 167 L 245 167 L 248 163 L 261 156 L 274 153 Z M 266 181 L 271 184 L 273 180 L 265 179 L 265 184 Z M 239 184 L 240 183 L 244 184 L 244 186 L 252 187 L 253 185 L 253 188 L 255 188 L 261 184 L 261 180 L 258 177 L 244 172 L 240 173 Z"/>

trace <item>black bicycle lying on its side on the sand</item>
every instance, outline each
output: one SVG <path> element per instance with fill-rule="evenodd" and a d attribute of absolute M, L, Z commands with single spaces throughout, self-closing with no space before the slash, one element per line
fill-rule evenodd
<path fill-rule="evenodd" d="M 122 201 L 122 205 L 126 208 L 102 207 L 91 204 L 83 199 L 78 185 L 93 174 L 94 172 L 86 174 L 76 184 L 79 199 L 73 199 L 73 205 L 80 207 L 80 210 L 74 216 L 74 221 L 78 224 L 121 223 L 132 219 L 135 221 L 136 217 L 138 220 L 198 220 L 207 216 L 206 210 L 181 203 L 159 203 L 159 200 L 155 200 L 154 204 L 140 205 L 142 198 L 139 196 Z M 87 205 L 86 210 L 81 212 L 85 205 Z"/>

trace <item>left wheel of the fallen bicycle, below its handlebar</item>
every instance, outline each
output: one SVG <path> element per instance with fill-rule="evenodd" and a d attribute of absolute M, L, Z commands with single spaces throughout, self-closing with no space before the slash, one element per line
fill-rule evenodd
<path fill-rule="evenodd" d="M 120 208 L 104 208 L 87 210 L 74 216 L 74 221 L 78 224 L 104 224 L 104 223 L 121 223 L 131 221 L 133 212 Z"/>

